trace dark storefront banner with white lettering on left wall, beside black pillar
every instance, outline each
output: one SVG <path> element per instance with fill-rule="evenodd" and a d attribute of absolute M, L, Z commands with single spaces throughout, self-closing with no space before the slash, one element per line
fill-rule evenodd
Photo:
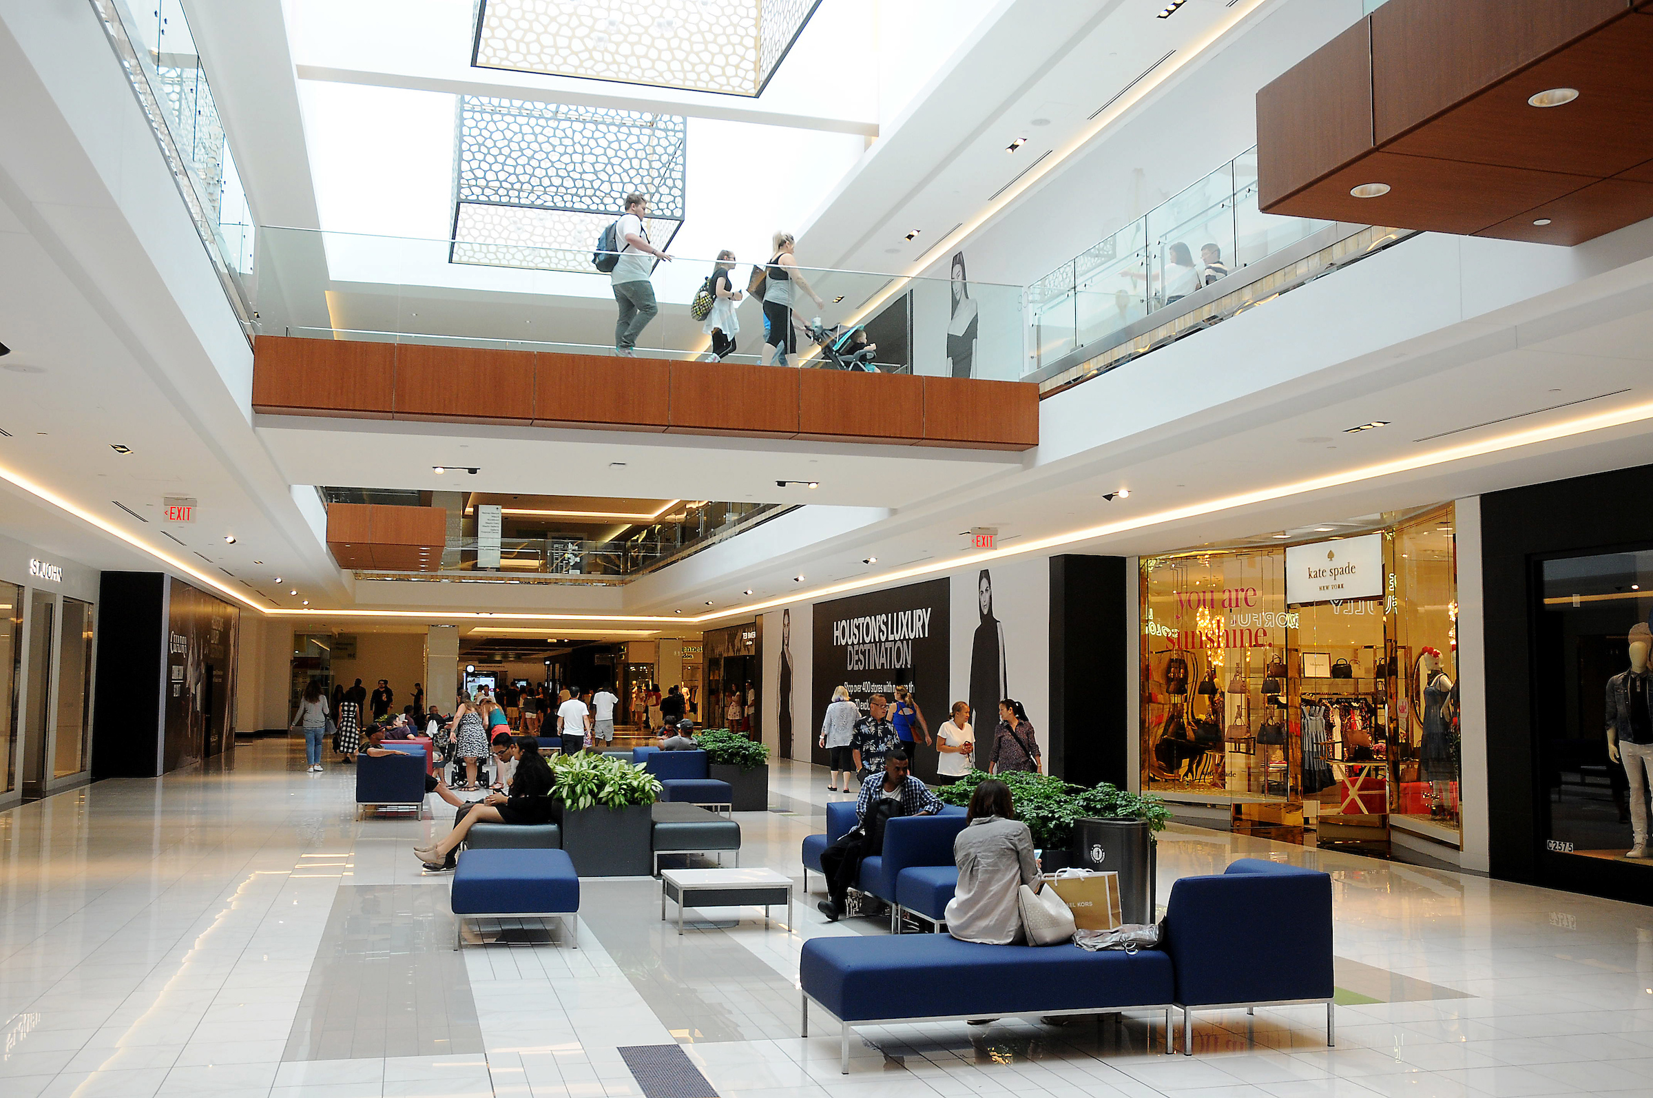
<path fill-rule="evenodd" d="M 162 771 L 175 771 L 223 752 L 230 741 L 240 610 L 175 579 L 167 589 Z"/>

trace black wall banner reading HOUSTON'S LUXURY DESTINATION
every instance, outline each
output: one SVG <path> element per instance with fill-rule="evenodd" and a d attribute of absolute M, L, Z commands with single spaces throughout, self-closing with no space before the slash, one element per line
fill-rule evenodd
<path fill-rule="evenodd" d="M 815 604 L 808 731 L 813 762 L 826 764 L 820 728 L 835 686 L 848 686 L 850 701 L 863 714 L 873 695 L 893 703 L 896 686 L 911 686 L 931 733 L 947 719 L 949 590 L 949 580 L 934 579 Z M 936 781 L 934 744 L 919 742 L 912 772 L 926 782 Z"/>

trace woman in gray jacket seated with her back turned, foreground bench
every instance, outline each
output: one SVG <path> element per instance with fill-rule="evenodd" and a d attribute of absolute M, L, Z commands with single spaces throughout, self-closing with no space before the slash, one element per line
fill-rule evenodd
<path fill-rule="evenodd" d="M 1038 891 L 1033 833 L 1017 819 L 1010 787 L 988 779 L 975 787 L 969 817 L 952 840 L 959 888 L 947 901 L 947 933 L 960 941 L 1010 946 L 1022 941 L 1022 885 Z"/>

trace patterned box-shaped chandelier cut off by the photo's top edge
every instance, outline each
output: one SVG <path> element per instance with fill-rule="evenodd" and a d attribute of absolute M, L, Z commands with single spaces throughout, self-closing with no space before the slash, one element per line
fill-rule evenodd
<path fill-rule="evenodd" d="M 820 0 L 479 0 L 471 64 L 759 96 Z"/>

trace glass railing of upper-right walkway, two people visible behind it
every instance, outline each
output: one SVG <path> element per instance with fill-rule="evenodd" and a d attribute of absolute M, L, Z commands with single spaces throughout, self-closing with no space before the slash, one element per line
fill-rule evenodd
<path fill-rule="evenodd" d="M 1327 225 L 1258 210 L 1253 147 L 1028 286 L 1025 372 L 1106 346 Z"/>

